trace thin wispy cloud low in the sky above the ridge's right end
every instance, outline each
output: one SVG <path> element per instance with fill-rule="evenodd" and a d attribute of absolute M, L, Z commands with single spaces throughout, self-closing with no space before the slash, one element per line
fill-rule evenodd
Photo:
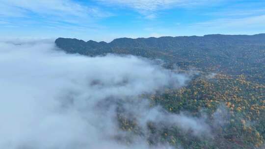
<path fill-rule="evenodd" d="M 265 32 L 265 15 L 214 19 L 181 26 L 178 29 L 196 32 L 196 35 L 205 34 L 259 34 Z"/>

